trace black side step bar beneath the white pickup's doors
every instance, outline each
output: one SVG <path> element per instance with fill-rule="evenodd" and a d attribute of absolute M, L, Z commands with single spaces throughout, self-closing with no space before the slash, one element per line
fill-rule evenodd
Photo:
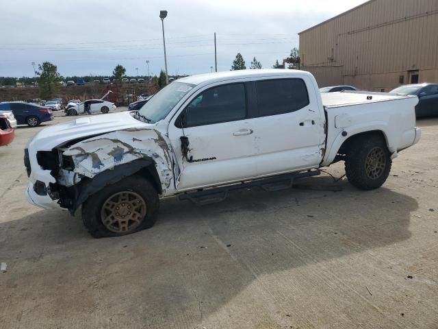
<path fill-rule="evenodd" d="M 299 178 L 305 178 L 310 176 L 320 175 L 321 171 L 308 170 L 300 173 L 287 173 L 284 175 L 273 176 L 269 178 L 261 178 L 259 180 L 250 180 L 247 182 L 240 182 L 237 184 L 220 186 L 216 188 L 203 188 L 194 192 L 185 192 L 179 195 L 180 200 L 190 200 L 197 206 L 203 206 L 205 204 L 214 204 L 222 202 L 227 198 L 229 191 L 238 190 L 240 188 L 248 188 L 253 186 L 259 186 L 265 191 L 280 191 L 286 188 L 291 188 L 294 184 L 294 180 Z"/>

